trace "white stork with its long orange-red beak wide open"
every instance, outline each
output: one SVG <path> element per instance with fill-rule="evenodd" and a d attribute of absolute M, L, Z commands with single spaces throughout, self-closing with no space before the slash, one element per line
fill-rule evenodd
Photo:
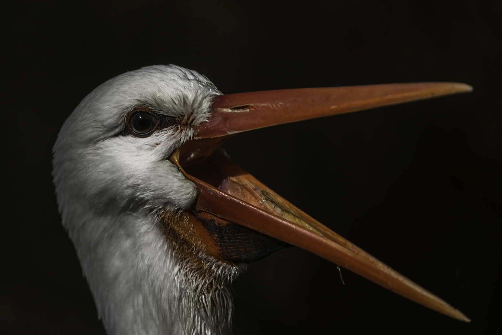
<path fill-rule="evenodd" d="M 61 128 L 53 177 L 62 224 L 107 333 L 231 333 L 232 280 L 246 263 L 289 245 L 469 321 L 218 147 L 243 131 L 471 89 L 415 83 L 223 95 L 175 65 L 98 86 Z"/>

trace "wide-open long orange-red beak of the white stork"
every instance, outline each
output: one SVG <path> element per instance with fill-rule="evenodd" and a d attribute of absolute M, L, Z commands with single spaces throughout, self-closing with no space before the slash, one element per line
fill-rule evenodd
<path fill-rule="evenodd" d="M 408 83 L 273 90 L 214 97 L 208 122 L 196 127 L 193 139 L 170 157 L 199 189 L 197 200 L 189 211 L 196 235 L 194 241 L 201 241 L 205 251 L 216 259 L 236 263 L 239 258 L 232 258 L 235 250 L 229 251 L 228 247 L 235 245 L 235 241 L 228 239 L 235 238 L 227 239 L 228 234 L 217 237 L 214 232 L 229 232 L 239 225 L 258 232 L 261 237 L 270 237 L 272 241 L 308 250 L 412 301 L 469 322 L 459 310 L 279 196 L 232 163 L 218 147 L 228 137 L 243 131 L 471 90 L 472 87 L 460 83 Z M 262 249 L 274 251 L 270 243 L 260 243 Z M 247 248 L 242 243 L 237 245 L 240 249 Z"/>

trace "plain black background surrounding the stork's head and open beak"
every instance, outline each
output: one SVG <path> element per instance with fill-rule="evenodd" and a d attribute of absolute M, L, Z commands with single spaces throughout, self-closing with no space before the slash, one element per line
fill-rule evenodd
<path fill-rule="evenodd" d="M 103 81 L 177 64 L 224 93 L 459 81 L 443 97 L 241 134 L 230 157 L 472 318 L 296 248 L 234 284 L 235 334 L 500 331 L 500 8 L 491 2 L 84 2 L 5 8 L 2 333 L 103 333 L 60 225 L 51 148 Z"/>

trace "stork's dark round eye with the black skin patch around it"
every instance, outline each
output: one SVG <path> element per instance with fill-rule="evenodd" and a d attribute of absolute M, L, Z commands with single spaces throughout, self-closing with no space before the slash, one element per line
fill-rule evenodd
<path fill-rule="evenodd" d="M 177 124 L 176 118 L 155 113 L 150 108 L 135 108 L 126 116 L 124 134 L 148 137 L 155 131 Z"/>

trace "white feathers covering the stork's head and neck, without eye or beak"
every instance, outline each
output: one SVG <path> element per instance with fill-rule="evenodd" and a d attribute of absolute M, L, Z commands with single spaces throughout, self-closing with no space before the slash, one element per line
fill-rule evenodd
<path fill-rule="evenodd" d="M 173 253 L 155 215 L 195 200 L 195 186 L 166 158 L 206 120 L 218 94 L 195 71 L 145 67 L 94 89 L 58 135 L 53 176 L 63 226 L 110 335 L 231 332 L 226 283 L 237 268 L 199 254 L 207 270 L 200 273 Z M 184 126 L 123 135 L 126 115 L 140 106 Z"/>

